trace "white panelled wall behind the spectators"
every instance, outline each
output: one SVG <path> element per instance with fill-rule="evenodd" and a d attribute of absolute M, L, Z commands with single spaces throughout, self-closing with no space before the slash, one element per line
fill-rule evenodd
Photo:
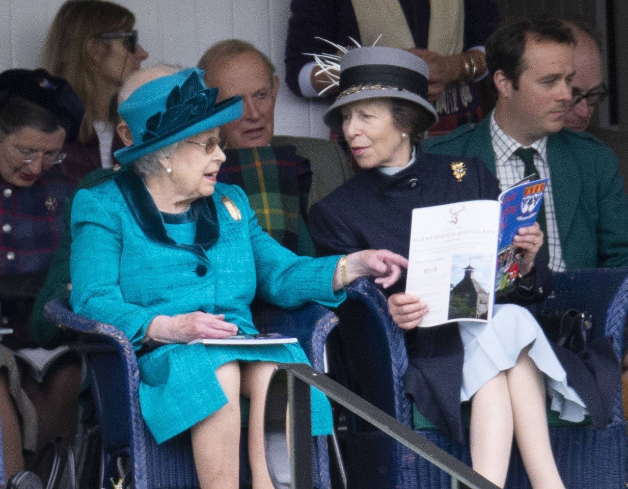
<path fill-rule="evenodd" d="M 0 0 L 0 71 L 35 68 L 50 22 L 63 0 Z M 237 37 L 268 54 L 281 80 L 276 132 L 325 137 L 320 104 L 293 95 L 284 82 L 289 0 L 118 0 L 136 15 L 144 66 L 195 66 L 208 46 Z"/>

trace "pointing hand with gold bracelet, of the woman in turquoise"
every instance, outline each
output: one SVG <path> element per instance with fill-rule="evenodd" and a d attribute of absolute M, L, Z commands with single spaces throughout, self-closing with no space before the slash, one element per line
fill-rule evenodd
<path fill-rule="evenodd" d="M 377 277 L 375 282 L 386 289 L 399 280 L 401 267 L 408 268 L 408 260 L 392 251 L 358 251 L 347 255 L 344 274 L 342 259 L 338 261 L 333 273 L 332 287 L 337 291 L 359 277 Z"/>

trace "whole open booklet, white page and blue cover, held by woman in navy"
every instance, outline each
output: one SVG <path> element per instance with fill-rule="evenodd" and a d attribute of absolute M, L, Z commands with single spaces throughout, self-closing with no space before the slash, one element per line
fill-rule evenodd
<path fill-rule="evenodd" d="M 499 200 L 413 210 L 406 293 L 430 307 L 420 326 L 492 317 L 495 293 L 515 286 L 521 254 L 513 239 L 536 221 L 546 181 L 522 181 Z"/>

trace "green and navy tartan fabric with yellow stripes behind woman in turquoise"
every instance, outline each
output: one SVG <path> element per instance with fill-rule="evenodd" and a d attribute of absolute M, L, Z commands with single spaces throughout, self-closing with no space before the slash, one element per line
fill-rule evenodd
<path fill-rule="evenodd" d="M 291 145 L 228 149 L 225 154 L 218 180 L 241 186 L 259 225 L 281 245 L 296 254 L 313 254 L 309 235 L 304 235 L 310 162 Z"/>

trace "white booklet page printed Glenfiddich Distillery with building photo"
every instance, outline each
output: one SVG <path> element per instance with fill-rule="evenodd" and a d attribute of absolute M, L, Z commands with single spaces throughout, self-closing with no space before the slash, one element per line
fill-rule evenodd
<path fill-rule="evenodd" d="M 406 293 L 430 306 L 420 326 L 490 318 L 498 218 L 496 200 L 413 210 Z"/>

